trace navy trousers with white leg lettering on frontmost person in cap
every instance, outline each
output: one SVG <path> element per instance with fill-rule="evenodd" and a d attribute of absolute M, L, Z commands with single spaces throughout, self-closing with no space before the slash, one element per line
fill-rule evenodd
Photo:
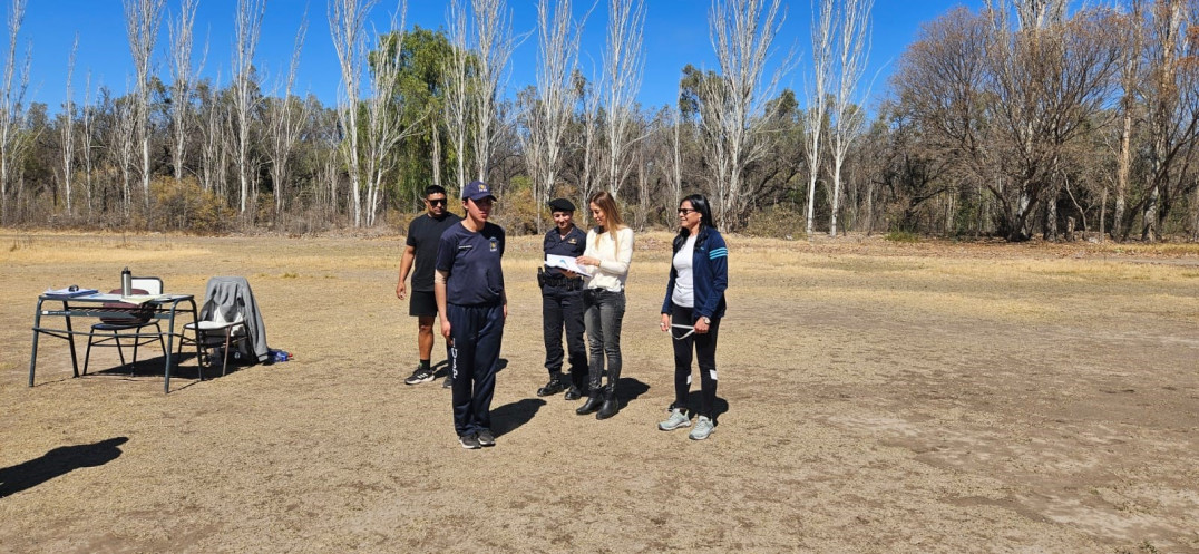
<path fill-rule="evenodd" d="M 500 367 L 504 305 L 446 305 L 450 320 L 450 372 L 453 375 L 453 428 L 458 436 L 492 428 L 492 396 Z"/>

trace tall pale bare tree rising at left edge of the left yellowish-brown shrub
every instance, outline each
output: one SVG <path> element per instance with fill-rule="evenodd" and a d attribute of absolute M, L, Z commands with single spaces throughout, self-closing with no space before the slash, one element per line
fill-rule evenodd
<path fill-rule="evenodd" d="M 150 58 L 158 41 L 158 25 L 167 0 L 123 0 L 125 31 L 129 40 L 135 74 L 137 103 L 133 109 L 135 139 L 141 140 L 141 193 L 144 207 L 150 207 Z"/>

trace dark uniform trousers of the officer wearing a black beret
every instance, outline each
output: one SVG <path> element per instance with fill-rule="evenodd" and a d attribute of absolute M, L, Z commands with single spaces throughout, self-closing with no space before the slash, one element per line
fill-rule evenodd
<path fill-rule="evenodd" d="M 562 372 L 562 327 L 570 354 L 571 384 L 583 389 L 588 379 L 588 345 L 583 333 L 583 290 L 568 284 L 546 284 L 541 289 L 541 321 L 546 339 L 546 369 L 549 377 Z"/>

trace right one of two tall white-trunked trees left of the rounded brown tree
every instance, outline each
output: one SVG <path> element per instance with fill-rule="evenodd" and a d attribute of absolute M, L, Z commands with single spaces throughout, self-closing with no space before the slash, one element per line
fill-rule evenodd
<path fill-rule="evenodd" d="M 874 0 L 842 0 L 840 12 L 836 20 L 836 53 L 838 61 L 832 72 L 832 106 L 830 107 L 830 139 L 832 146 L 832 215 L 829 221 L 829 235 L 837 236 L 837 217 L 840 212 L 842 168 L 849 149 L 862 132 L 866 112 L 862 102 L 855 102 L 857 86 L 866 72 L 866 60 L 869 56 L 870 8 Z M 864 97 L 864 95 L 863 95 Z"/>

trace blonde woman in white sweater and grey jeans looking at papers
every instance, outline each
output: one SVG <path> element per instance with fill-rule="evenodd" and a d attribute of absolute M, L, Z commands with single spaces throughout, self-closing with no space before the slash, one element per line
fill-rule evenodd
<path fill-rule="evenodd" d="M 596 228 L 588 231 L 586 249 L 577 261 L 591 269 L 583 291 L 583 320 L 591 353 L 588 365 L 591 387 L 588 401 L 574 413 L 595 414 L 597 420 L 607 420 L 620 409 L 616 399 L 621 367 L 620 324 L 625 319 L 625 279 L 633 261 L 633 230 L 625 225 L 611 194 L 596 193 L 589 207 Z M 608 383 L 602 386 L 604 359 L 608 361 Z"/>

